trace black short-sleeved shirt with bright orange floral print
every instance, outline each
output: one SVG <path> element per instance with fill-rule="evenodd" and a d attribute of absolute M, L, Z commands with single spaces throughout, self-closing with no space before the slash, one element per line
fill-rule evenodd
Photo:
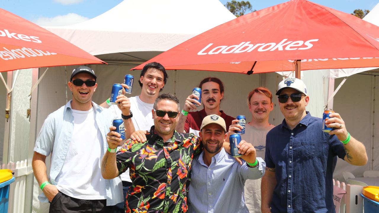
<path fill-rule="evenodd" d="M 163 142 L 152 126 L 146 139 L 129 139 L 116 155 L 119 174 L 129 168 L 133 182 L 125 212 L 186 212 L 192 159 L 200 152 L 197 137 L 175 131 Z"/>

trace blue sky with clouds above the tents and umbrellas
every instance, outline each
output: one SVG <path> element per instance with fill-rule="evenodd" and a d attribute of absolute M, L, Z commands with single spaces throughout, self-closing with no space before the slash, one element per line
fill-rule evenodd
<path fill-rule="evenodd" d="M 99 16 L 120 2 L 122 0 L 0 0 L 0 8 L 41 26 L 62 26 Z M 225 5 L 228 0 L 220 2 Z M 250 0 L 256 10 L 283 2 L 286 0 Z M 313 0 L 313 2 L 352 13 L 358 8 L 371 10 L 379 0 Z"/>

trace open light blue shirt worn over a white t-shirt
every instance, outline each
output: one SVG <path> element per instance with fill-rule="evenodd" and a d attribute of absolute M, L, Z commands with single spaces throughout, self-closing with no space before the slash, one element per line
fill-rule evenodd
<path fill-rule="evenodd" d="M 113 113 L 92 102 L 94 108 L 96 124 L 102 135 L 103 153 L 107 151 L 106 133 L 112 125 Z M 71 100 L 55 112 L 49 114 L 38 134 L 34 151 L 41 155 L 49 156 L 52 153 L 50 166 L 50 181 L 56 185 L 55 178 L 59 174 L 66 158 L 67 150 L 70 146 L 72 132 L 74 130 L 74 116 L 72 116 Z M 86 141 L 90 142 L 90 141 Z M 89 145 L 90 146 L 90 145 Z M 85 150 L 81 150 L 85 151 Z M 99 156 L 101 159 L 103 156 Z M 119 177 L 105 180 L 106 205 L 116 205 L 122 202 L 122 183 Z M 41 201 L 47 202 L 47 198 L 40 195 Z"/>

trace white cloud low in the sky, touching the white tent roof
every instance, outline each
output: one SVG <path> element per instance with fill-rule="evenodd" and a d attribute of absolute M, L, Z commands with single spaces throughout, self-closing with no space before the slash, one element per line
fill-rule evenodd
<path fill-rule="evenodd" d="M 39 17 L 36 20 L 33 20 L 34 23 L 36 23 L 39 26 L 65 26 L 65 25 L 72 25 L 79 22 L 84 22 L 85 20 L 88 20 L 87 17 L 80 16 L 76 13 L 69 13 L 62 16 L 55 16 L 55 17 Z"/>

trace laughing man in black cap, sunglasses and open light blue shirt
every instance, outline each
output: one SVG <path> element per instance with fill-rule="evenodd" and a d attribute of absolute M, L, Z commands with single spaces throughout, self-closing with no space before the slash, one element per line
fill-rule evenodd
<path fill-rule="evenodd" d="M 47 117 L 34 147 L 41 201 L 51 203 L 50 212 L 110 212 L 123 200 L 120 178 L 105 180 L 100 172 L 113 113 L 92 102 L 97 83 L 91 68 L 75 68 L 67 85 L 73 99 Z M 48 178 L 45 159 L 50 153 Z"/>

